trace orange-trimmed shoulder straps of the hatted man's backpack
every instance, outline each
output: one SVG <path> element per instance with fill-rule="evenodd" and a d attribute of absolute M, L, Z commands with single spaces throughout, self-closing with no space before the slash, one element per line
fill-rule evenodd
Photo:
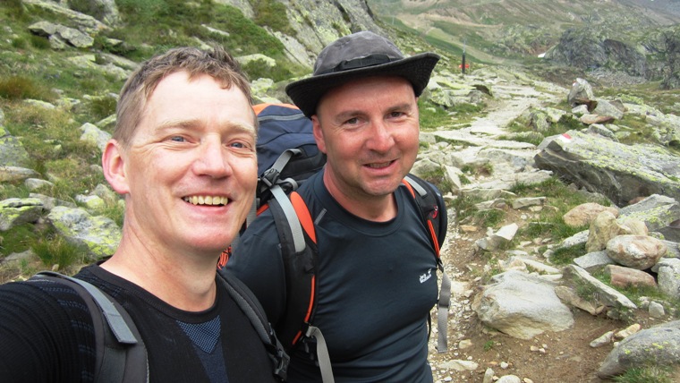
<path fill-rule="evenodd" d="M 438 270 L 442 273 L 441 288 L 438 299 L 438 353 L 446 353 L 448 307 L 451 298 L 451 280 L 444 271 L 439 258 L 440 245 L 446 237 L 446 206 L 437 189 L 418 177 L 407 175 L 402 181 L 416 200 L 421 218 L 429 231 L 429 238 L 435 251 Z M 276 188 L 273 188 L 273 190 Z M 285 347 L 290 348 L 298 343 L 302 335 L 315 337 L 317 340 L 317 359 L 324 383 L 333 382 L 326 341 L 321 330 L 311 325 L 316 310 L 316 277 L 317 241 L 314 222 L 304 200 L 297 191 L 286 196 L 284 191 L 274 192 L 274 199 L 269 201 L 276 231 L 281 243 L 284 257 L 286 295 L 289 297 L 309 297 L 289 299 L 286 303 L 285 317 L 282 322 L 285 328 L 278 335 L 283 339 Z M 284 225 L 286 223 L 286 225 Z M 302 323 L 301 319 L 302 318 Z M 297 326 L 297 323 L 301 323 Z M 430 318 L 428 318 L 430 323 Z M 431 329 L 431 326 L 430 326 Z"/>

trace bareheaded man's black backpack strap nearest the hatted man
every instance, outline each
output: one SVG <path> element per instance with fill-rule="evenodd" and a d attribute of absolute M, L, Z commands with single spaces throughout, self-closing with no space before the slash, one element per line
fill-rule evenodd
<path fill-rule="evenodd" d="M 274 362 L 274 374 L 281 380 L 286 379 L 288 372 L 288 362 L 290 358 L 285 353 L 284 346 L 281 345 L 274 329 L 271 327 L 265 315 L 264 309 L 259 304 L 257 298 L 251 290 L 239 279 L 231 275 L 217 273 L 226 287 L 226 291 L 234 299 L 234 302 L 241 308 L 241 311 L 251 320 L 252 327 L 258 333 L 262 343 L 267 347 L 269 358 Z"/>

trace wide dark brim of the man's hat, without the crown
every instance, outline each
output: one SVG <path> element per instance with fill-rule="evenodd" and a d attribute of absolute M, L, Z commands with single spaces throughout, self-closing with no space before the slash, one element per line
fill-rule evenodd
<path fill-rule="evenodd" d="M 304 115 L 311 117 L 317 113 L 319 99 L 329 90 L 353 81 L 370 76 L 399 76 L 410 81 L 416 97 L 428 86 L 429 76 L 439 61 L 439 55 L 422 53 L 412 55 L 399 61 L 378 64 L 343 72 L 332 72 L 311 76 L 293 81 L 285 87 L 285 92 Z"/>

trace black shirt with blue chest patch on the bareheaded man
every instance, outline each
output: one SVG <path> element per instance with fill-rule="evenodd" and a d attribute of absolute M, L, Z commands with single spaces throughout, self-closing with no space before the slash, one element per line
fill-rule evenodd
<path fill-rule="evenodd" d="M 130 313 L 147 347 L 150 381 L 277 381 L 265 345 L 224 288 L 213 307 L 190 312 L 98 266 L 77 277 Z M 0 308 L 2 381 L 93 381 L 92 319 L 72 288 L 50 281 L 0 285 Z"/>

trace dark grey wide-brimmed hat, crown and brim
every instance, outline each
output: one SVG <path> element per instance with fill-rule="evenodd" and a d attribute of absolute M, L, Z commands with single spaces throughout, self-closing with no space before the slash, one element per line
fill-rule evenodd
<path fill-rule="evenodd" d="M 319 98 L 328 89 L 361 77 L 404 77 L 411 81 L 418 97 L 428 86 L 438 61 L 439 55 L 434 53 L 404 57 L 387 38 L 370 31 L 357 32 L 325 47 L 317 57 L 311 77 L 291 82 L 285 92 L 308 117 L 317 113 Z"/>

